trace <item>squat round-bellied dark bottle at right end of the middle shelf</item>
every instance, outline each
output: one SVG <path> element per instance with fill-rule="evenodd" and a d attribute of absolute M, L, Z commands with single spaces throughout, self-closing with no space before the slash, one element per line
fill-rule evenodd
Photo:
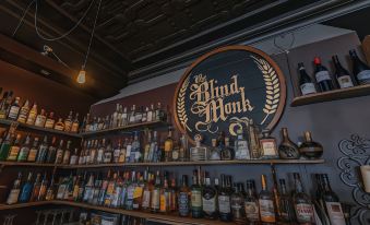
<path fill-rule="evenodd" d="M 317 159 L 323 155 L 320 143 L 312 141 L 311 132 L 305 132 L 305 142 L 299 146 L 300 154 L 308 159 Z"/>

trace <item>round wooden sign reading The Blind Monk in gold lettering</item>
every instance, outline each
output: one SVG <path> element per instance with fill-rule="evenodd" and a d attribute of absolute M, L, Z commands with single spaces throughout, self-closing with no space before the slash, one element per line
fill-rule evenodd
<path fill-rule="evenodd" d="M 231 137 L 247 131 L 251 120 L 272 130 L 285 100 L 285 79 L 272 58 L 249 46 L 227 46 L 200 57 L 182 75 L 175 122 L 192 142 L 201 134 L 210 144 L 219 131 Z"/>

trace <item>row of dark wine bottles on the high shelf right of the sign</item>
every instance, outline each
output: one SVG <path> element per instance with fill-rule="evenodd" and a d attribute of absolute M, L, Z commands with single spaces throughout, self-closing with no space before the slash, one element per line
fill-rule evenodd
<path fill-rule="evenodd" d="M 313 94 L 319 92 L 327 92 L 334 90 L 335 86 L 338 88 L 347 88 L 355 86 L 356 84 L 370 84 L 370 67 L 361 61 L 356 50 L 350 50 L 349 56 L 353 61 L 353 74 L 355 80 L 349 74 L 348 70 L 346 70 L 339 62 L 338 57 L 335 55 L 332 57 L 335 72 L 334 72 L 334 81 L 329 70 L 321 64 L 321 59 L 319 57 L 314 58 L 315 71 L 314 79 L 315 82 L 312 81 L 311 76 L 307 74 L 305 66 L 302 62 L 298 63 L 299 70 L 299 87 L 302 95 Z M 315 85 L 317 83 L 317 85 Z M 319 90 L 317 88 L 319 87 Z"/>

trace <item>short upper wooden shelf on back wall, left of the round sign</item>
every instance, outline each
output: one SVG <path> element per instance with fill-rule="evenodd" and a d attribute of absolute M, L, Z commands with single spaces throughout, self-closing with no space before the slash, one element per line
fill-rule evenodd
<path fill-rule="evenodd" d="M 128 126 L 119 127 L 119 128 L 110 128 L 110 129 L 105 129 L 105 130 L 84 132 L 84 133 L 81 133 L 81 135 L 82 137 L 103 135 L 103 134 L 114 133 L 114 132 L 133 131 L 133 130 L 138 130 L 138 128 L 162 127 L 165 125 L 166 123 L 163 121 L 141 122 L 141 123 L 128 125 Z"/>

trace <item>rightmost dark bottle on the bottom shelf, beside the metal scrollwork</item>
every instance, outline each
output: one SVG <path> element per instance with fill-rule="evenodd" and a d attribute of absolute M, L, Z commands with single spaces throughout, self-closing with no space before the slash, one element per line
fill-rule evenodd
<path fill-rule="evenodd" d="M 346 221 L 343 214 L 342 205 L 338 196 L 332 190 L 327 175 L 322 175 L 323 180 L 323 192 L 322 200 L 324 209 L 329 215 L 331 224 L 346 225 Z"/>

